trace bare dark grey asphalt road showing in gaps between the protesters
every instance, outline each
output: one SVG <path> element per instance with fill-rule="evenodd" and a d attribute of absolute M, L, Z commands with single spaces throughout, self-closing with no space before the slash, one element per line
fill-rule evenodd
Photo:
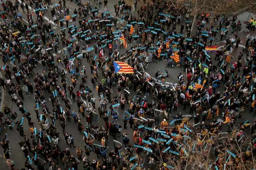
<path fill-rule="evenodd" d="M 92 1 L 90 1 L 90 2 L 92 2 Z M 57 1 L 57 0 L 52 0 L 52 3 L 58 3 L 58 1 Z M 93 2 L 92 2 L 92 3 L 93 3 Z M 114 12 L 114 10 L 113 10 L 113 5 L 114 5 L 114 3 L 117 3 L 117 0 L 115 0 L 115 1 L 110 1 L 110 0 L 109 0 L 109 3 L 108 3 L 109 9 L 108 9 L 108 10 L 111 11 L 111 13 Z M 74 4 L 74 3 L 72 3 L 72 2 L 69 2 L 69 1 L 66 1 L 66 6 L 68 6 L 68 7 L 70 8 L 70 10 L 71 10 L 70 13 L 71 13 L 71 14 L 73 14 L 73 11 L 75 10 L 75 8 L 78 9 L 78 6 L 77 6 L 76 4 Z M 45 16 L 52 20 L 52 17 L 51 17 L 51 15 L 50 15 L 50 10 L 51 10 L 51 8 L 48 9 L 48 11 L 46 12 Z M 101 8 L 100 10 L 103 10 L 103 9 Z M 26 20 L 26 16 L 25 16 L 24 14 L 23 14 L 23 18 L 25 18 L 25 20 Z M 24 21 L 24 22 L 25 22 L 25 21 Z M 77 23 L 77 25 L 78 25 L 78 23 Z M 60 27 L 59 27 L 59 26 L 56 26 L 56 27 L 57 27 L 57 28 L 54 29 L 55 32 L 60 33 Z M 243 36 L 246 36 L 246 35 L 243 34 L 243 33 L 241 33 L 240 37 L 243 37 Z M 245 41 L 244 41 L 244 40 L 242 40 L 242 41 L 243 41 L 243 42 L 241 43 L 241 45 L 244 45 L 244 44 L 245 44 Z M 138 43 L 138 44 L 139 44 L 139 43 Z M 58 50 L 60 50 L 60 49 L 63 48 L 63 47 L 61 46 L 61 44 L 59 44 L 59 45 L 60 45 L 60 48 L 59 48 Z M 223 45 L 223 43 L 218 43 L 217 45 L 218 45 L 218 46 L 221 46 L 221 45 Z M 128 46 L 128 48 L 130 48 L 130 46 Z M 234 56 L 234 59 L 231 60 L 231 63 L 236 61 L 236 57 L 237 57 L 238 50 L 241 50 L 241 49 L 242 49 L 242 47 L 239 47 L 238 49 L 234 49 L 234 50 L 233 50 L 232 55 Z M 125 49 L 120 49 L 120 53 L 124 53 L 125 51 L 126 51 Z M 210 54 L 211 56 L 214 56 L 214 54 L 211 54 L 211 53 L 209 53 L 209 54 Z M 95 54 L 94 54 L 94 55 L 95 55 Z M 87 68 L 89 68 L 89 64 L 87 63 L 87 61 L 86 61 L 85 59 L 82 59 L 82 64 L 85 65 Z M 214 64 L 217 65 L 217 62 L 214 62 Z M 3 67 L 3 63 L 0 63 L 0 66 Z M 158 71 L 159 69 L 160 69 L 161 71 L 164 70 L 165 66 L 166 66 L 166 61 L 164 61 L 164 60 L 163 60 L 163 61 L 160 61 L 160 62 L 158 61 L 157 63 L 149 64 L 149 66 L 145 69 L 145 71 L 146 71 L 147 73 L 149 73 L 150 75 L 154 76 L 155 73 L 156 73 L 156 71 Z M 242 68 L 241 68 L 241 69 L 242 69 Z M 185 74 L 185 72 L 183 71 L 183 68 L 173 67 L 173 68 L 167 68 L 167 70 L 169 71 L 169 77 L 165 79 L 165 81 L 167 81 L 167 82 L 176 83 L 176 82 L 177 82 L 177 75 L 178 75 L 179 73 L 184 73 L 184 74 Z M 37 67 L 34 69 L 34 72 L 37 72 L 37 71 L 38 71 L 39 73 L 41 73 L 41 71 L 42 71 L 42 65 L 41 65 L 41 64 L 37 65 Z M 100 71 L 100 72 L 101 72 L 101 71 Z M 241 75 L 241 72 L 238 73 L 238 74 Z M 101 73 L 99 73 L 99 75 L 101 75 Z M 89 78 L 90 78 L 91 74 L 90 74 L 90 71 L 88 71 L 88 70 L 87 70 L 87 76 L 88 76 L 88 79 L 87 79 L 87 83 L 86 83 L 85 85 L 89 86 L 89 87 L 92 89 L 93 93 L 96 94 L 96 90 L 92 88 L 92 84 L 91 84 L 91 82 L 89 81 Z M 70 74 L 68 73 L 68 75 L 67 75 L 68 84 L 71 84 L 71 80 L 70 80 L 69 77 L 70 77 Z M 100 78 L 99 78 L 99 79 L 100 79 Z M 98 79 L 98 80 L 99 80 L 99 79 Z M 29 79 L 29 80 L 30 80 L 31 82 L 33 82 L 33 79 L 32 79 L 32 78 Z M 15 79 L 13 79 L 12 81 L 13 81 L 13 83 L 16 82 Z M 60 82 L 59 82 L 59 83 L 60 83 Z M 79 84 L 79 83 L 80 83 L 80 80 L 78 81 L 78 84 Z M 220 91 L 221 93 L 224 91 L 223 84 L 220 86 L 219 89 L 216 90 L 216 92 L 217 92 L 217 91 Z M 123 90 L 122 90 L 122 92 L 123 92 Z M 113 96 L 115 93 L 116 93 L 116 91 L 113 90 L 112 96 Z M 134 94 L 135 94 L 134 92 L 131 92 L 130 97 L 132 98 L 132 97 L 134 96 Z M 99 98 L 97 97 L 97 95 L 95 95 L 95 97 L 96 97 L 96 101 L 98 101 Z M 48 99 L 49 99 L 49 94 L 45 94 L 45 100 L 46 100 L 46 102 L 47 102 L 47 106 L 49 106 L 49 110 L 51 111 L 51 110 L 52 110 L 52 106 L 51 106 L 51 103 L 49 102 Z M 21 100 L 21 99 L 19 98 L 19 100 Z M 151 97 L 150 97 L 149 100 L 151 100 Z M 34 110 L 33 110 L 33 108 L 34 108 L 34 106 L 35 106 L 34 99 L 33 99 L 33 95 L 31 95 L 31 97 L 25 97 L 25 99 L 23 100 L 23 103 L 24 103 L 24 106 L 25 106 L 26 110 L 29 111 L 30 113 L 32 113 L 32 115 L 31 115 L 32 122 L 35 122 L 35 127 L 37 127 L 37 129 L 39 129 L 40 127 L 39 127 L 38 124 L 37 124 L 36 114 L 34 114 Z M 6 94 L 5 106 L 8 106 L 8 107 L 10 107 L 11 110 L 16 111 L 16 112 L 18 113 L 18 119 L 19 119 L 19 120 L 21 119 L 21 116 L 22 116 L 22 115 L 21 115 L 21 113 L 19 112 L 18 107 L 16 106 L 16 103 L 14 103 L 14 102 L 11 101 L 11 97 L 10 97 L 10 95 L 8 95 L 8 94 Z M 62 108 L 65 108 L 65 105 L 64 105 L 62 102 L 61 102 L 61 106 L 62 106 Z M 98 106 L 99 106 L 99 102 L 96 102 L 96 108 L 97 108 Z M 109 105 L 108 105 L 108 106 L 109 106 Z M 127 110 L 128 107 L 129 107 L 129 105 L 126 104 L 125 109 Z M 73 110 L 73 109 L 75 109 L 75 110 L 78 111 L 78 108 L 77 108 L 77 106 L 76 106 L 76 103 L 73 103 L 73 105 L 71 106 L 71 110 Z M 39 113 L 40 113 L 40 111 L 41 111 L 41 110 L 39 110 Z M 187 114 L 188 111 L 189 111 L 189 107 L 187 108 L 186 111 L 183 111 L 183 110 L 181 109 L 181 107 L 179 107 L 179 108 L 178 108 L 178 111 L 176 111 L 176 112 L 173 112 L 173 111 L 172 111 L 171 115 L 173 116 L 173 115 L 177 114 L 179 111 L 182 111 L 183 114 Z M 120 112 L 121 112 L 121 111 L 120 111 Z M 189 113 L 188 113 L 188 114 L 189 114 Z M 118 122 L 120 123 L 120 125 L 123 126 L 123 122 L 122 122 L 121 116 L 122 116 L 122 113 L 120 113 L 120 116 L 119 116 L 119 118 L 118 118 Z M 220 116 L 219 116 L 219 118 L 220 118 Z M 111 118 L 110 116 L 109 116 L 109 119 L 112 120 L 112 118 Z M 215 119 L 217 119 L 217 116 L 215 116 Z M 240 123 L 240 122 L 246 121 L 246 119 L 249 119 L 249 120 L 253 120 L 253 119 L 254 119 L 254 116 L 252 116 L 252 114 L 249 113 L 248 110 L 245 111 L 245 115 L 242 116 L 241 119 L 238 119 L 237 124 Z M 49 121 L 50 121 L 50 120 L 49 120 Z M 160 120 L 160 121 L 161 121 L 161 120 Z M 169 120 L 169 121 L 170 121 L 170 120 Z M 82 122 L 83 125 L 86 124 L 86 120 L 85 120 L 84 118 L 81 118 L 81 122 Z M 51 121 L 50 121 L 50 123 L 51 123 Z M 94 124 L 94 123 L 92 123 L 92 124 Z M 95 125 L 95 124 L 94 124 L 94 125 Z M 96 125 L 97 125 L 97 126 L 104 126 L 104 121 L 99 118 L 99 123 L 96 124 Z M 58 131 L 62 132 L 62 128 L 60 127 L 60 122 L 59 122 L 59 121 L 56 121 L 56 126 L 57 126 Z M 224 131 L 225 131 L 225 129 L 227 129 L 227 125 L 224 125 Z M 83 141 L 83 139 L 82 139 L 82 138 L 83 138 L 83 135 L 79 134 L 79 132 L 78 132 L 78 130 L 77 130 L 77 128 L 76 128 L 76 125 L 75 125 L 75 123 L 73 122 L 73 119 L 71 119 L 70 122 L 67 122 L 67 124 L 66 124 L 66 132 L 68 132 L 69 134 L 72 134 L 72 135 L 73 135 L 73 138 L 74 138 L 74 140 L 75 140 L 75 145 L 76 145 L 76 146 L 80 146 L 81 148 L 83 148 L 83 151 L 84 151 L 84 141 Z M 134 142 L 133 142 L 133 140 L 132 140 L 133 129 L 130 129 L 130 127 L 128 126 L 127 129 L 122 129 L 122 133 L 124 133 L 124 132 L 128 133 L 128 137 L 130 138 L 130 144 L 131 144 L 131 145 L 134 145 Z M 24 138 L 20 137 L 20 135 L 19 135 L 18 131 L 16 130 L 16 128 L 14 128 L 13 130 L 10 130 L 8 127 L 6 127 L 6 129 L 3 130 L 3 132 L 2 132 L 2 134 L 1 134 L 1 136 L 0 136 L 0 138 L 3 138 L 5 133 L 8 134 L 8 139 L 10 140 L 10 144 L 9 144 L 9 146 L 11 147 L 11 156 L 10 156 L 10 157 L 11 157 L 12 160 L 14 160 L 14 161 L 16 162 L 15 168 L 19 168 L 19 169 L 20 169 L 20 168 L 23 168 L 23 167 L 24 167 L 25 157 L 24 157 L 24 154 L 23 154 L 23 152 L 21 151 L 21 149 L 20 149 L 20 147 L 19 147 L 19 145 L 18 145 L 18 141 L 24 140 Z M 246 133 L 249 133 L 249 132 L 246 132 Z M 26 118 L 24 119 L 24 134 L 25 134 L 26 136 L 29 136 L 29 135 L 30 135 L 30 130 L 29 130 L 29 127 L 28 127 L 28 121 L 26 120 Z M 64 150 L 65 148 L 69 148 L 69 146 L 66 145 L 66 142 L 65 142 L 65 139 L 64 139 L 62 133 L 60 133 L 60 137 L 59 137 L 59 138 L 60 138 L 60 142 L 59 142 L 60 148 L 61 148 L 62 150 Z M 118 136 L 117 136 L 117 140 L 120 141 L 120 142 L 122 142 L 122 137 L 118 137 Z M 100 144 L 100 141 L 99 141 L 99 140 L 96 140 L 94 143 Z M 111 150 L 113 150 L 113 137 L 110 136 L 110 135 L 109 135 L 109 143 L 107 143 L 107 146 L 109 146 L 108 152 L 111 151 Z M 124 150 L 124 147 L 122 148 L 122 150 Z M 70 148 L 71 154 L 74 154 L 74 155 L 76 156 L 75 151 L 76 151 L 75 148 Z M 3 149 L 2 149 L 2 148 L 0 148 L 0 153 L 1 153 L 1 155 L 2 155 L 2 153 L 3 153 Z M 38 156 L 39 156 L 39 155 L 38 155 Z M 85 156 L 85 153 L 83 154 L 83 157 L 84 157 L 84 156 Z M 40 157 L 40 156 L 39 156 L 39 157 Z M 42 158 L 42 157 L 41 157 L 41 158 Z M 43 158 L 42 158 L 42 159 L 43 159 Z M 97 157 L 96 157 L 96 154 L 91 153 L 91 155 L 90 155 L 90 157 L 89 157 L 89 160 L 92 161 L 93 159 L 97 159 Z M 100 159 L 101 159 L 101 158 L 100 158 Z M 5 162 L 5 159 L 4 159 L 3 157 L 2 157 L 2 160 Z M 2 167 L 5 166 L 4 162 L 0 161 L 0 165 L 1 165 Z M 62 162 L 62 160 L 59 160 L 59 162 Z M 69 164 L 69 165 L 70 165 L 70 164 Z M 78 166 L 79 166 L 79 169 L 82 169 L 82 165 L 83 165 L 82 162 L 78 165 Z M 33 165 L 33 166 L 34 166 L 34 165 Z M 49 167 L 49 165 L 45 165 L 45 168 L 46 168 L 46 167 Z M 62 163 L 59 163 L 59 164 L 58 164 L 58 167 L 64 169 Z"/>

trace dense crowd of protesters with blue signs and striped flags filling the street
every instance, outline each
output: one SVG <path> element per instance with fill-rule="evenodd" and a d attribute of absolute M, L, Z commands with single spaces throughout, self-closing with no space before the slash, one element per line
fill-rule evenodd
<path fill-rule="evenodd" d="M 8 133 L 18 130 L 24 138 L 19 143 L 9 141 L 6 133 L 0 142 L 8 167 L 17 169 L 9 142 L 18 143 L 26 157 L 22 170 L 166 170 L 188 166 L 221 170 L 255 166 L 256 119 L 242 123 L 239 119 L 249 114 L 246 108 L 256 113 L 256 36 L 248 33 L 246 48 L 231 62 L 231 48 L 234 43 L 238 48 L 241 42 L 237 16 L 232 23 L 226 17 L 214 16 L 215 23 L 207 28 L 210 14 L 203 12 L 198 16 L 196 35 L 191 35 L 191 9 L 176 8 L 172 0 L 163 5 L 151 0 L 148 19 L 146 4 L 136 9 L 136 0 L 133 5 L 138 17 L 131 14 L 130 4 L 118 0 L 115 15 L 120 10 L 121 19 L 107 11 L 107 0 L 104 12 L 86 2 L 73 14 L 65 0 L 52 10 L 50 3 L 2 1 L 0 85 L 15 106 L 10 109 L 6 104 L 0 112 L 0 132 L 6 133 L 8 126 Z M 45 21 L 49 11 L 52 19 Z M 22 18 L 25 13 L 28 24 Z M 55 25 L 59 25 L 60 33 Z M 176 25 L 181 25 L 180 30 Z M 246 32 L 254 32 L 255 25 L 251 19 Z M 223 48 L 209 50 L 207 47 L 215 44 L 214 37 L 225 37 L 230 26 L 233 38 L 227 37 Z M 122 53 L 123 48 L 128 50 Z M 130 65 L 133 73 L 118 73 L 115 61 Z M 90 65 L 87 71 L 86 62 Z M 164 70 L 149 75 L 146 69 L 159 62 L 165 63 Z M 181 73 L 176 82 L 168 83 L 165 79 L 172 69 Z M 34 112 L 24 104 L 26 100 L 34 100 Z M 84 146 L 76 144 L 81 139 L 72 136 L 76 132 L 67 132 L 67 124 L 76 126 Z M 65 139 L 66 149 L 60 147 L 60 139 Z M 110 150 L 112 139 L 114 149 Z M 76 153 L 70 152 L 72 147 Z M 210 150 L 214 154 L 205 159 L 202 153 Z M 97 159 L 91 158 L 92 151 Z"/>

